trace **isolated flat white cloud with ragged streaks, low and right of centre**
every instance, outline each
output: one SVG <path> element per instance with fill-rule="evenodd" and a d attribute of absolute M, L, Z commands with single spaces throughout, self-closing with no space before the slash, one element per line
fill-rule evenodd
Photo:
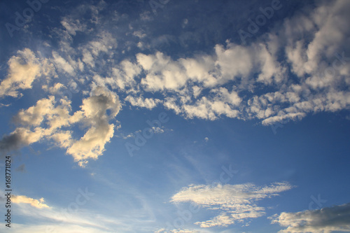
<path fill-rule="evenodd" d="M 278 196 L 279 192 L 290 190 L 292 185 L 286 182 L 272 183 L 258 187 L 251 183 L 243 185 L 190 185 L 183 188 L 172 197 L 172 202 L 195 202 L 211 210 L 221 213 L 211 218 L 197 222 L 200 227 L 227 227 L 247 218 L 258 218 L 265 215 L 265 208 L 255 202 L 260 199 Z"/>

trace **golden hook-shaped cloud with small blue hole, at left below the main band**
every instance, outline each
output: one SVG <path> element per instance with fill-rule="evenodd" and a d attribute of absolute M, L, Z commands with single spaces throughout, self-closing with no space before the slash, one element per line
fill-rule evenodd
<path fill-rule="evenodd" d="M 14 150 L 41 139 L 51 139 L 57 146 L 67 148 L 66 153 L 84 167 L 89 159 L 97 159 L 104 151 L 104 145 L 114 134 L 114 125 L 109 120 L 120 111 L 118 96 L 104 87 L 95 87 L 90 97 L 83 99 L 80 111 L 70 115 L 71 101 L 55 97 L 40 99 L 35 106 L 21 110 L 14 117 L 19 127 L 0 141 L 1 151 Z M 110 111 L 107 115 L 107 110 Z M 79 123 L 87 127 L 80 139 L 73 139 L 69 127 Z"/>

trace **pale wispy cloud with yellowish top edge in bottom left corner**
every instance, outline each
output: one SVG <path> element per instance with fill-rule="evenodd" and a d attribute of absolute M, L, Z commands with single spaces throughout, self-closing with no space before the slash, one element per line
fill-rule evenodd
<path fill-rule="evenodd" d="M 3 192 L 1 192 L 3 196 Z M 33 199 L 25 195 L 13 195 L 13 204 L 19 206 L 16 213 L 31 220 L 33 224 L 21 225 L 11 223 L 14 232 L 111 232 L 113 226 L 123 227 L 120 221 L 101 216 L 93 211 L 87 211 L 82 206 L 85 204 L 79 199 L 78 207 L 68 204 L 66 209 L 44 204 L 44 199 Z M 2 227 L 2 226 L 1 226 Z M 0 227 L 0 229 L 1 229 Z M 111 228 L 110 228 L 111 227 Z M 126 226 L 125 226 L 126 227 Z"/>

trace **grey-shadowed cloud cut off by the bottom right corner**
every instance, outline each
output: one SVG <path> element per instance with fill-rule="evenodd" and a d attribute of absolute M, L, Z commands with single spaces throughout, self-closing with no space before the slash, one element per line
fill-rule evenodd
<path fill-rule="evenodd" d="M 278 223 L 285 230 L 279 232 L 350 232 L 350 203 L 313 211 L 276 214 L 269 217 L 272 223 Z"/>

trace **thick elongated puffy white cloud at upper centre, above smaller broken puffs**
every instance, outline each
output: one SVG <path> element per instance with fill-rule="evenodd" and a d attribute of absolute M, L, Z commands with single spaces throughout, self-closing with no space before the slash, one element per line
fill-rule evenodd
<path fill-rule="evenodd" d="M 264 43 L 244 47 L 228 41 L 225 47 L 216 45 L 214 55 L 195 55 L 178 60 L 162 52 L 155 55 L 139 53 L 136 57 L 146 71 L 146 77 L 141 80 L 146 90 L 179 91 L 187 85 L 192 86 L 192 82 L 203 87 L 217 87 L 235 80 L 246 88 L 255 72 L 260 73 L 258 82 L 262 83 L 272 83 L 274 78 L 280 81 L 283 75 L 281 65 Z"/>

